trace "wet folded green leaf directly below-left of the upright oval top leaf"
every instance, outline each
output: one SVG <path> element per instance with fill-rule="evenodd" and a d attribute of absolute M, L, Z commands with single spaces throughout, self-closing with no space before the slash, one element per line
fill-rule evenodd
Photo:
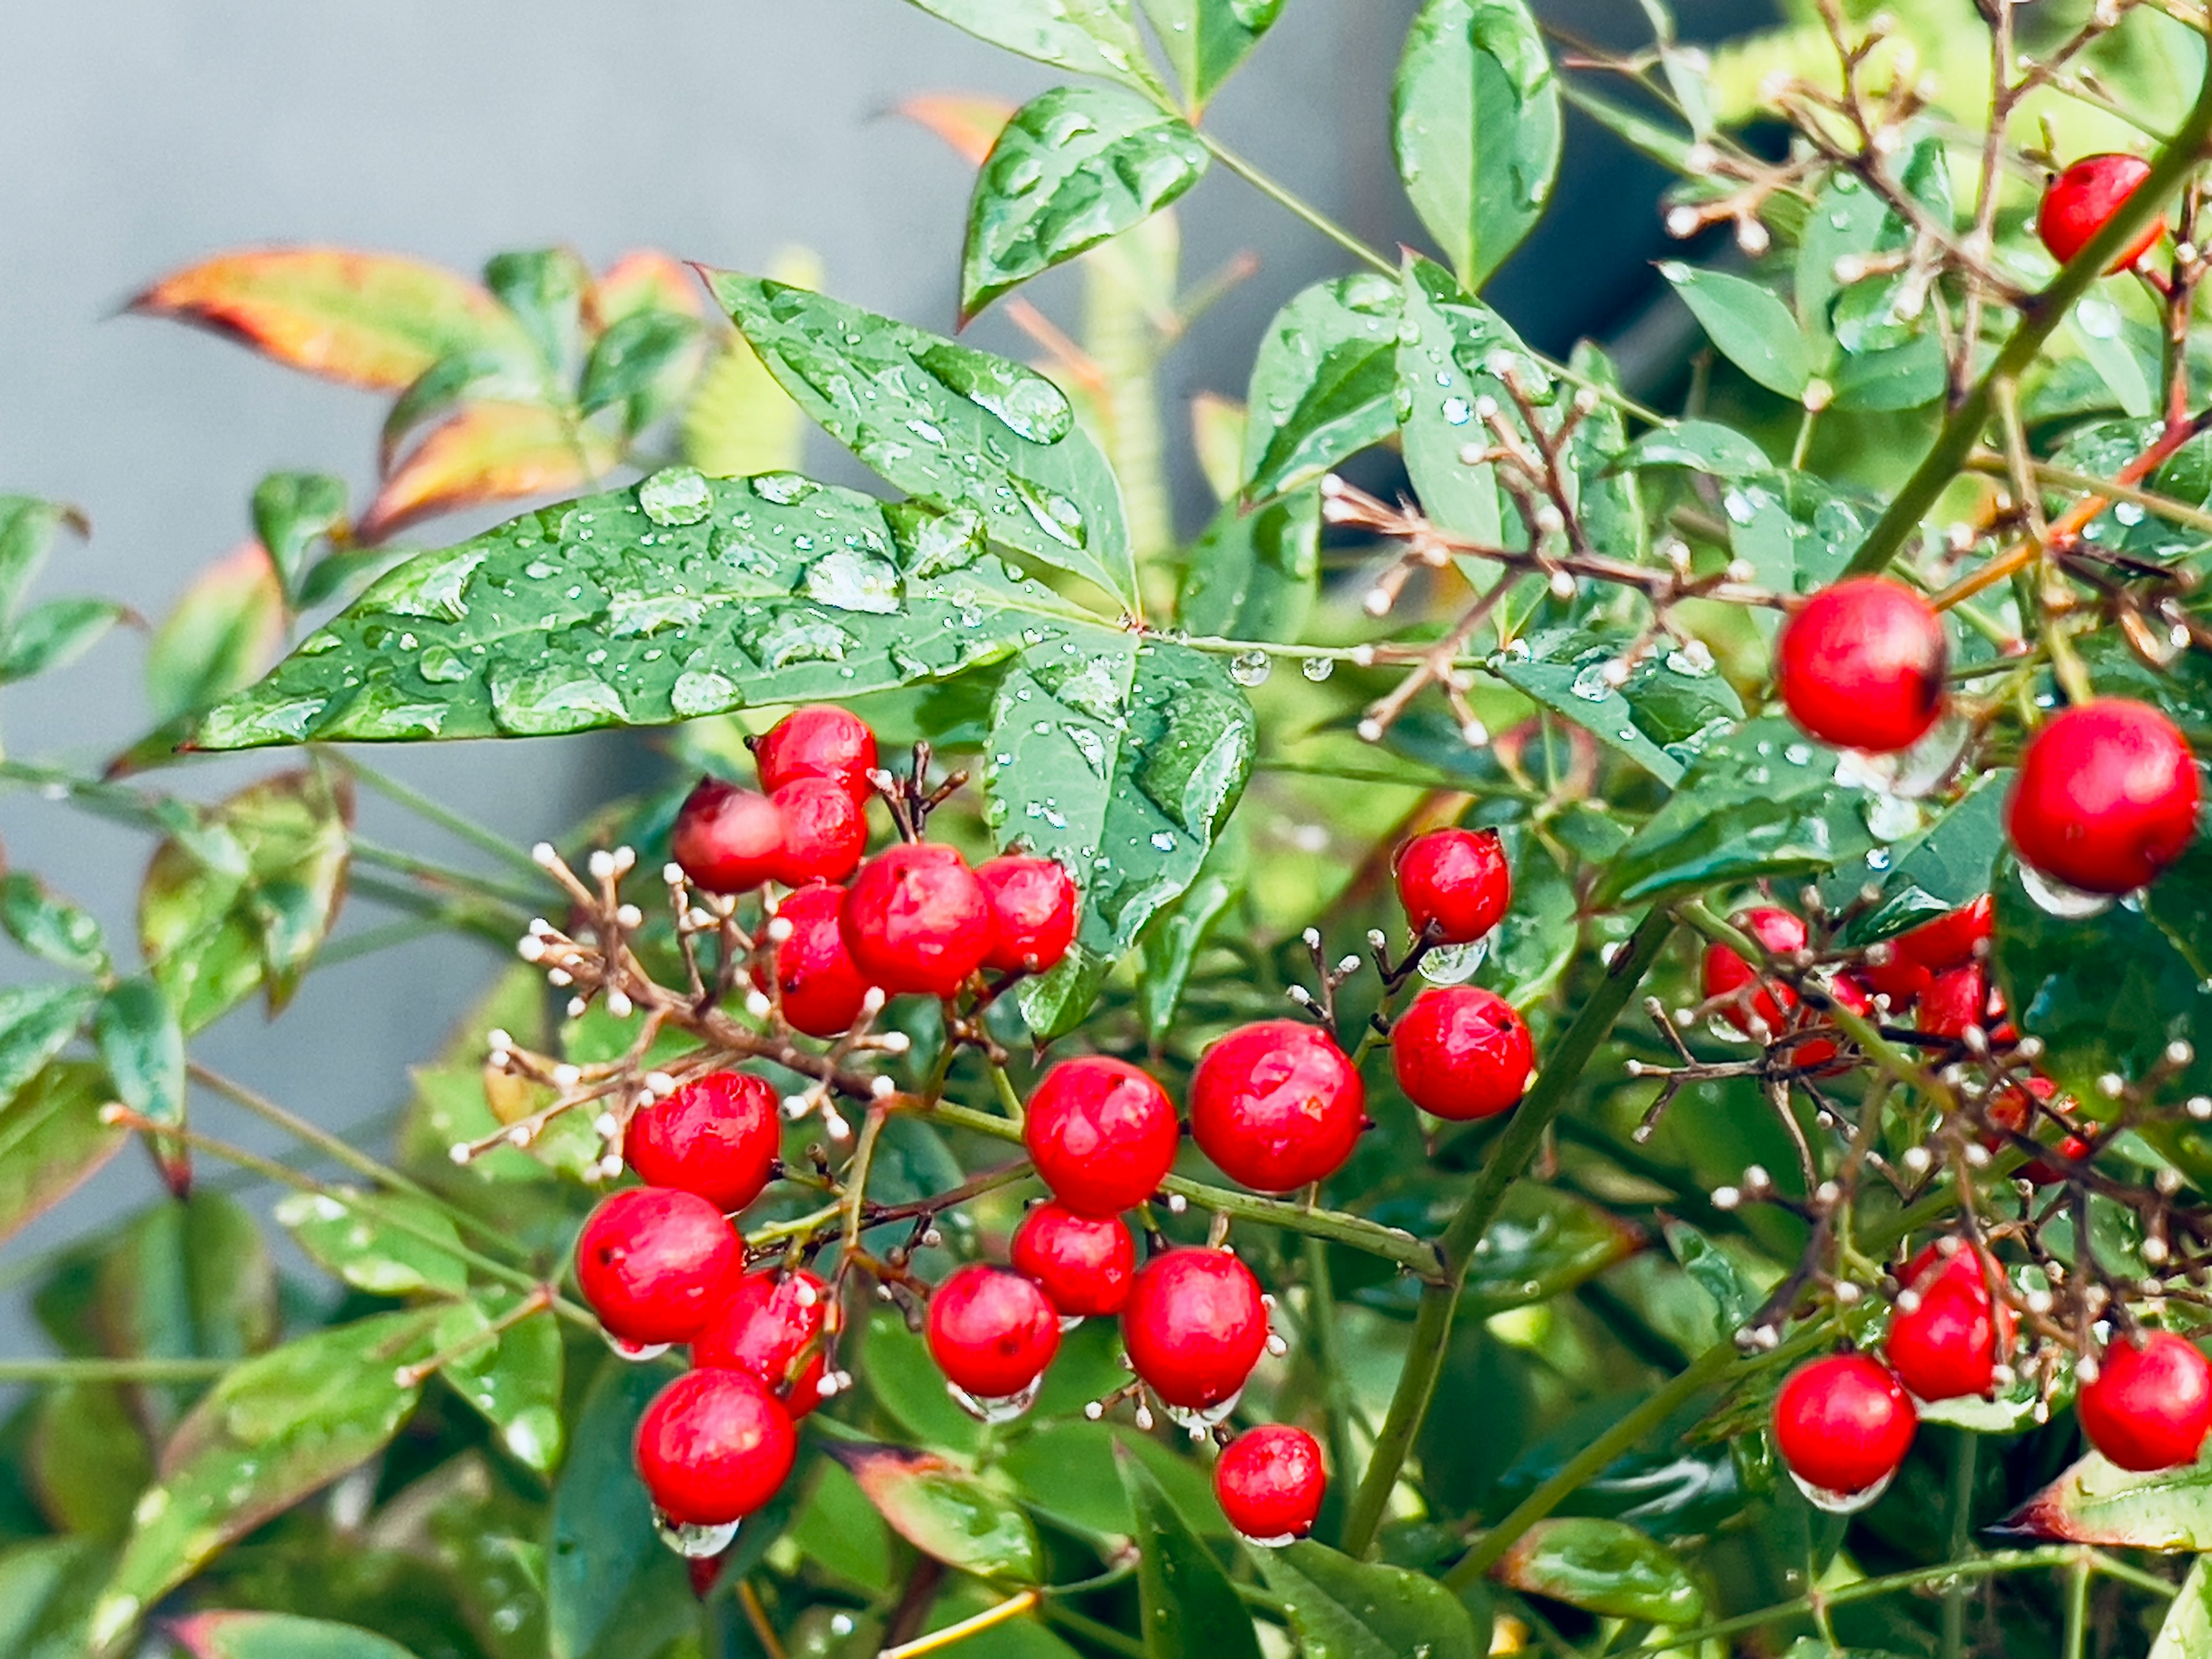
<path fill-rule="evenodd" d="M 1354 272 L 1292 296 L 1252 361 L 1245 500 L 1296 489 L 1398 429 L 1398 283 Z"/>

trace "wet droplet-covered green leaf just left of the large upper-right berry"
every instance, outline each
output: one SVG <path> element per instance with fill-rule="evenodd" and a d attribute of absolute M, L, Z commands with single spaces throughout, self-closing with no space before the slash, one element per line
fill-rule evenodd
<path fill-rule="evenodd" d="M 1606 748 L 1635 761 L 1661 783 L 1681 783 L 1683 768 L 1705 741 L 1743 719 L 1743 701 L 1721 675 L 1670 653 L 1646 657 L 1621 686 L 1606 679 L 1621 655 L 1617 637 L 1559 628 L 1493 659 L 1493 670 L 1562 719 L 1582 726 Z"/>

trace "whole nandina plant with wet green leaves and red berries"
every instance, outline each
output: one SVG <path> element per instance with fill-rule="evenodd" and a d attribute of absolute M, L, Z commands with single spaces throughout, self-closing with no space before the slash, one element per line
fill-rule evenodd
<path fill-rule="evenodd" d="M 2201 7 L 1425 0 L 1389 254 L 1206 124 L 1281 0 L 920 4 L 1068 77 L 907 106 L 1035 363 L 799 257 L 139 299 L 389 414 L 142 732 L 0 763 L 155 843 L 137 940 L 0 885 L 0 1230 L 170 1192 L 9 1267 L 0 1650 L 2203 1652 Z M 1679 173 L 1686 374 L 1480 296 L 1568 106 Z M 1190 533 L 1208 170 L 1343 274 L 1190 407 Z M 84 529 L 0 502 L 7 679 L 124 617 L 29 602 Z M 595 728 L 657 781 L 531 849 L 374 748 Z M 440 929 L 520 962 L 387 1144 L 199 1057 Z"/>

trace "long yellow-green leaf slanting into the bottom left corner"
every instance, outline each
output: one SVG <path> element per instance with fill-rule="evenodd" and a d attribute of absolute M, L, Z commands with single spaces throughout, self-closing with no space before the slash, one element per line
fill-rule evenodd
<path fill-rule="evenodd" d="M 139 1500 L 93 1608 L 91 1648 L 126 1646 L 146 1610 L 226 1544 L 383 1451 L 418 1396 L 394 1369 L 427 1334 L 425 1314 L 380 1314 L 226 1374 L 177 1425 L 161 1484 Z"/>

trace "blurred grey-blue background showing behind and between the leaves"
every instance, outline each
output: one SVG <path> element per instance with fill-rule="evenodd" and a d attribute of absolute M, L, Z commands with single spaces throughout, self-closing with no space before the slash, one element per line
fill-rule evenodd
<path fill-rule="evenodd" d="M 1420 241 L 1389 157 L 1389 82 L 1416 0 L 1290 0 L 1210 124 L 1369 243 Z M 1540 0 L 1579 40 L 1635 46 L 1635 0 Z M 1692 0 L 1683 40 L 1772 18 L 1767 0 Z M 221 250 L 343 243 L 462 272 L 507 248 L 568 243 L 593 268 L 633 248 L 761 270 L 821 257 L 825 288 L 949 330 L 969 166 L 894 106 L 922 91 L 1024 100 L 1051 71 L 984 46 L 900 0 L 111 0 L 0 7 L 0 491 L 80 507 L 44 593 L 106 593 L 161 615 L 190 577 L 248 540 L 248 495 L 272 469 L 374 487 L 380 403 L 290 374 L 175 323 L 124 316 L 155 276 Z M 1621 347 L 1630 385 L 1681 361 L 1688 312 L 1650 261 L 1661 173 L 1577 115 L 1553 210 L 1486 296 L 1551 352 L 1577 336 Z M 1343 254 L 1214 173 L 1186 199 L 1183 268 L 1203 281 L 1237 254 L 1259 272 L 1214 305 L 1164 376 L 1188 431 L 1197 392 L 1243 396 L 1254 345 L 1298 288 Z M 1068 276 L 1037 283 L 1046 312 Z M 987 316 L 975 341 L 1026 354 Z M 1179 445 L 1181 529 L 1203 491 Z M 823 440 L 810 469 L 858 482 Z M 500 513 L 504 515 L 504 513 Z M 491 515 L 495 518 L 495 515 Z M 467 522 L 427 526 L 458 540 Z M 144 635 L 117 633 L 77 666 L 0 701 L 9 757 L 97 768 L 146 728 Z M 540 739 L 387 750 L 394 774 L 531 843 L 653 776 L 646 745 Z M 199 765 L 217 796 L 272 770 Z M 363 832 L 449 863 L 482 863 L 374 796 Z M 146 836 L 35 792 L 0 792 L 0 845 L 133 936 Z M 363 925 L 363 914 L 341 927 Z M 310 975 L 274 1026 L 259 1000 L 195 1055 L 321 1124 L 383 1139 L 376 1119 L 482 987 L 467 940 L 380 951 Z M 0 953 L 0 980 L 42 969 Z M 221 1133 L 268 1146 L 226 1113 Z M 0 1259 L 0 1354 L 35 1338 L 20 1307 L 33 1261 L 157 1190 L 126 1150 Z"/>

